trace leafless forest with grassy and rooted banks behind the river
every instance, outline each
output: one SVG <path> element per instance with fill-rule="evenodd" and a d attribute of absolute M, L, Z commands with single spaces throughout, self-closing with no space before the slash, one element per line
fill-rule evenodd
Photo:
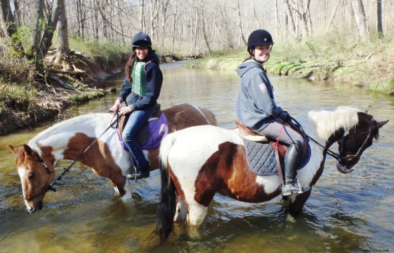
<path fill-rule="evenodd" d="M 393 94 L 393 9 L 394 0 L 0 0 L 0 129 L 103 95 L 94 83 L 122 68 L 136 32 L 161 56 L 235 53 L 239 64 L 250 32 L 265 29 L 273 68 L 314 65 L 322 78 L 341 68 Z"/>

